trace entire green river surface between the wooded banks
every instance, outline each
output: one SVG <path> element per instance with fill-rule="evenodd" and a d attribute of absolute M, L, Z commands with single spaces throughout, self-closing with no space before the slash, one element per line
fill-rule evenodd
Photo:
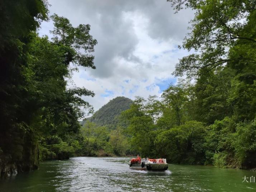
<path fill-rule="evenodd" d="M 129 169 L 130 158 L 74 157 L 42 162 L 40 169 L 0 181 L 0 192 L 216 191 L 256 192 L 256 172 L 169 164 L 165 172 Z M 242 183 L 244 177 L 247 181 Z"/>

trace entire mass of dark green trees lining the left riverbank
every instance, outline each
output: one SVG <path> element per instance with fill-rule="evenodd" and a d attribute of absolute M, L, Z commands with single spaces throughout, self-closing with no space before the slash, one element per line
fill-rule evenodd
<path fill-rule="evenodd" d="M 37 168 L 39 159 L 68 158 L 83 140 L 78 119 L 92 112 L 80 96 L 85 88 L 67 88 L 73 65 L 95 68 L 96 40 L 90 25 L 72 27 L 51 16 L 53 38 L 36 33 L 48 19 L 47 1 L 0 3 L 0 173 Z M 72 63 L 72 66 L 71 66 Z M 13 169 L 10 169 L 13 166 Z"/>

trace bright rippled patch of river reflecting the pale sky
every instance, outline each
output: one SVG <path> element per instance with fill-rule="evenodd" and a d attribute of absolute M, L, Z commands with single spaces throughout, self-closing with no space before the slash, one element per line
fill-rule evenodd
<path fill-rule="evenodd" d="M 63 164 L 61 180 L 65 184 L 57 191 L 138 191 L 161 189 L 161 177 L 171 174 L 170 171 L 148 173 L 129 169 L 129 158 L 74 158 Z M 157 179 L 156 179 L 157 178 Z M 167 179 L 165 182 L 167 182 Z M 81 186 L 83 186 L 81 188 Z M 161 187 L 161 188 L 159 188 Z"/>

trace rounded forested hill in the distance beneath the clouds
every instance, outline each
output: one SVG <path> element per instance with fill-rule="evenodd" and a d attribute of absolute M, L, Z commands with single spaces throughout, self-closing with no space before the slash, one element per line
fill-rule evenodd
<path fill-rule="evenodd" d="M 133 101 L 127 97 L 116 97 L 96 111 L 89 120 L 101 126 L 115 126 L 118 123 L 117 117 L 122 111 L 129 109 L 132 102 Z"/>

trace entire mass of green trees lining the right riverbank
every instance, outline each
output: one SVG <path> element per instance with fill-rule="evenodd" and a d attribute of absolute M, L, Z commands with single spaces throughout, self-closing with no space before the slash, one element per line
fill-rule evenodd
<path fill-rule="evenodd" d="M 188 81 L 122 113 L 132 149 L 174 163 L 256 167 L 255 1 L 168 1 L 195 11 L 183 43 L 193 53 L 174 72 Z"/>

